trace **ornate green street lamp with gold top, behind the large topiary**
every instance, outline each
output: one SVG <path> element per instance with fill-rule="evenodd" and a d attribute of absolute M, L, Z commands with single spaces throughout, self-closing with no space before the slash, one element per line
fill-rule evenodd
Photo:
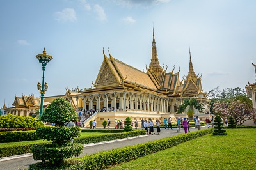
<path fill-rule="evenodd" d="M 36 55 L 36 58 L 39 60 L 39 63 L 41 63 L 42 66 L 43 66 L 43 81 L 42 81 L 42 86 L 41 86 L 40 82 L 38 82 L 38 84 L 37 84 L 37 88 L 38 88 L 38 90 L 40 91 L 40 94 L 41 94 L 41 105 L 40 105 L 40 116 L 41 116 L 42 113 L 43 113 L 44 93 L 45 93 L 45 91 L 47 91 L 47 89 L 48 89 L 47 83 L 45 82 L 45 84 L 44 84 L 44 71 L 45 71 L 45 66 L 46 66 L 47 63 L 48 63 L 49 61 L 51 61 L 53 58 L 52 58 L 52 56 L 46 54 L 45 48 L 44 48 L 43 54 L 38 54 L 38 55 Z"/>

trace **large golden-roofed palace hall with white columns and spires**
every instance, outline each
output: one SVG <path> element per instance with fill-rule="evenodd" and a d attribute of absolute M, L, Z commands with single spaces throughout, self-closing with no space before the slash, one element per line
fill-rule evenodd
<path fill-rule="evenodd" d="M 94 88 L 71 91 L 66 89 L 64 97 L 73 105 L 76 111 L 95 109 L 95 116 L 99 122 L 108 118 L 114 122 L 131 116 L 132 120 L 140 121 L 141 118 L 153 118 L 163 121 L 163 118 L 175 119 L 177 107 L 185 98 L 196 98 L 201 102 L 205 113 L 209 113 L 210 101 L 207 93 L 203 92 L 201 76 L 195 74 L 191 53 L 189 49 L 188 75 L 180 81 L 179 72 L 167 72 L 160 66 L 157 56 L 156 40 L 153 29 L 152 56 L 146 72 L 127 65 L 111 56 L 106 56 L 103 49 L 104 59 Z M 46 102 L 52 102 L 56 97 L 45 97 Z M 108 112 L 100 112 L 106 108 Z M 200 114 L 195 110 L 196 114 Z M 184 115 L 183 115 L 184 116 Z M 99 123 L 101 124 L 101 123 Z M 99 125 L 98 124 L 98 125 Z M 114 123 L 112 123 L 114 124 Z"/>

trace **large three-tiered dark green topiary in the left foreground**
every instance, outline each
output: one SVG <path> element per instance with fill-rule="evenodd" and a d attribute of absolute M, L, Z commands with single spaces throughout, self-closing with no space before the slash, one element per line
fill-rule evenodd
<path fill-rule="evenodd" d="M 43 112 L 40 120 L 55 123 L 56 127 L 37 128 L 36 135 L 40 139 L 51 140 L 51 144 L 32 146 L 34 160 L 42 160 L 43 166 L 58 167 L 65 158 L 78 156 L 83 151 L 82 144 L 72 143 L 74 137 L 79 137 L 79 127 L 65 127 L 65 122 L 77 120 L 77 114 L 72 105 L 64 98 L 56 98 Z M 74 125 L 74 123 L 72 124 Z"/>

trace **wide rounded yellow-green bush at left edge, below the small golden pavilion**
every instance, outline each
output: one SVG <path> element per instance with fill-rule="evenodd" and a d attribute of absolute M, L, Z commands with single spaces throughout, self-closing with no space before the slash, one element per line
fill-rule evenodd
<path fill-rule="evenodd" d="M 0 116 L 0 128 L 33 128 L 44 127 L 44 123 L 29 116 L 8 114 Z"/>

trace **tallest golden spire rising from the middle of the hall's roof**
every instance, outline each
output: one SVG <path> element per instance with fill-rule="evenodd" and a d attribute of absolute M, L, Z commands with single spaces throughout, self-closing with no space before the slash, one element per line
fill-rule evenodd
<path fill-rule="evenodd" d="M 152 54 L 151 54 L 151 62 L 149 66 L 150 70 L 153 70 L 155 75 L 160 79 L 161 72 L 163 69 L 161 68 L 158 58 L 157 58 L 157 50 L 156 50 L 156 40 L 155 40 L 155 33 L 153 27 L 153 42 L 152 42 Z"/>

